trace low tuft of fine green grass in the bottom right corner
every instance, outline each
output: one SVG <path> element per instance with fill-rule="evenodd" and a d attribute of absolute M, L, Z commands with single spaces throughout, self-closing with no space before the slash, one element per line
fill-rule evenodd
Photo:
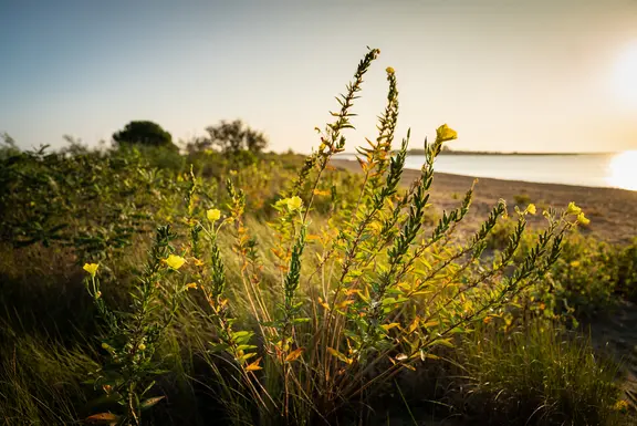
<path fill-rule="evenodd" d="M 618 424 L 617 366 L 583 336 L 534 322 L 503 336 L 479 329 L 461 349 L 467 404 L 491 424 Z"/>

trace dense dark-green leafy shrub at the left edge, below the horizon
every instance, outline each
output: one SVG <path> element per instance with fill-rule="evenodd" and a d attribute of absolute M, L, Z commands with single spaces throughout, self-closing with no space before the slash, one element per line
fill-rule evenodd
<path fill-rule="evenodd" d="M 156 208 L 157 198 L 174 196 L 177 188 L 169 170 L 150 168 L 138 150 L 67 157 L 44 146 L 12 155 L 1 166 L 0 240 L 14 248 L 70 247 L 79 264 L 105 259 L 136 233 L 152 230 L 157 214 L 167 216 Z"/>

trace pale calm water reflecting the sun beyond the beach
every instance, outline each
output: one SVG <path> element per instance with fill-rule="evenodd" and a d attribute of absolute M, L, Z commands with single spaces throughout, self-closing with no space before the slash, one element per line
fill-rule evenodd
<path fill-rule="evenodd" d="M 354 159 L 352 154 L 338 157 Z M 425 156 L 408 156 L 406 168 L 419 169 L 424 162 Z M 440 155 L 436 172 L 637 190 L 637 150 L 582 155 Z"/>

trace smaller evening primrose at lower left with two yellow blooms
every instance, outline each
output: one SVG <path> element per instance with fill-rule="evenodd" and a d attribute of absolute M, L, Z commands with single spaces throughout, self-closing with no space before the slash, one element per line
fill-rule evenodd
<path fill-rule="evenodd" d="M 174 320 L 185 292 L 191 288 L 176 277 L 186 259 L 174 253 L 175 237 L 169 226 L 157 229 L 147 263 L 130 291 L 127 312 L 107 306 L 100 285 L 98 264 L 84 264 L 88 274 L 86 289 L 105 328 L 102 350 L 107 360 L 90 381 L 95 389 L 103 392 L 94 409 L 111 408 L 91 415 L 87 422 L 140 425 L 142 412 L 164 397 L 147 396 L 155 384 L 153 377 L 161 373 L 160 362 L 154 359 L 156 345 Z"/>

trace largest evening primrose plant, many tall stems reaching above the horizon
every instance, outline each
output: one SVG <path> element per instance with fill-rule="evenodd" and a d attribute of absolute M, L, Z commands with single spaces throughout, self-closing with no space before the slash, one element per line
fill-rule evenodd
<path fill-rule="evenodd" d="M 328 422 L 352 402 L 370 397 L 397 374 L 434 357 L 436 346 L 452 346 L 455 335 L 502 311 L 543 280 L 565 232 L 584 220 L 574 205 L 562 214 L 545 211 L 546 229 L 516 260 L 525 217 L 536 212 L 532 205 L 516 208 L 515 226 L 490 264 L 483 261 L 483 252 L 489 235 L 507 215 L 504 201 L 493 207 L 464 243 L 452 243 L 451 237 L 469 211 L 473 187 L 458 208 L 427 225 L 435 160 L 457 133 L 446 124 L 437 128 L 435 141 L 425 142 L 420 176 L 404 189 L 399 183 L 409 132 L 391 154 L 398 91 L 396 72 L 389 67 L 378 136 L 358 150 L 364 178 L 356 201 L 330 209 L 325 225 L 310 235 L 314 200 L 325 194 L 322 177 L 332 157 L 344 149 L 344 132 L 353 128 L 354 100 L 378 53 L 369 50 L 361 61 L 354 81 L 337 98 L 341 110 L 332 113 L 334 122 L 320 133 L 318 149 L 273 205 L 278 216 L 271 222 L 275 236 L 271 250 L 250 237 L 243 220 L 246 195 L 228 184 L 232 199 L 228 220 L 233 224 L 234 252 L 241 259 L 243 294 L 258 324 L 254 330 L 237 330 L 237 322 L 228 316 L 232 306 L 222 294 L 232 283 L 227 282 L 216 233 L 210 238 L 210 274 L 201 288 L 218 335 L 211 345 L 230 355 L 238 372 L 232 383 L 246 395 L 244 401 L 234 397 L 228 404 L 234 411 L 244 404 L 246 412 L 260 413 L 264 424 Z M 321 246 L 317 258 L 305 258 L 309 245 Z M 264 251 L 276 258 L 278 284 L 264 281 L 267 257 L 259 256 Z"/>

